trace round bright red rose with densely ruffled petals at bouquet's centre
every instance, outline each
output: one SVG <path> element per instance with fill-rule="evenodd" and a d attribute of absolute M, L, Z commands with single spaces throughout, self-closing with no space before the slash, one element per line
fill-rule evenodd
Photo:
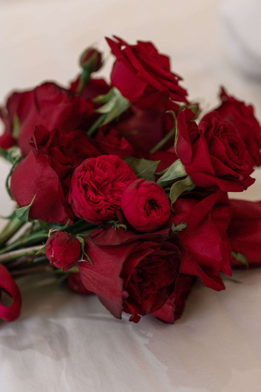
<path fill-rule="evenodd" d="M 136 179 L 116 155 L 86 159 L 72 174 L 68 202 L 76 216 L 98 225 L 116 218 L 122 192 Z"/>

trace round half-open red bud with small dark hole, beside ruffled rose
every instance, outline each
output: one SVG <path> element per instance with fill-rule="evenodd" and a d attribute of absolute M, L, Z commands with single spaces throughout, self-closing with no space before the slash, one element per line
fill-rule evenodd
<path fill-rule="evenodd" d="M 158 230 L 169 219 L 170 205 L 164 190 L 153 181 L 139 178 L 122 193 L 121 209 L 134 229 Z"/>

